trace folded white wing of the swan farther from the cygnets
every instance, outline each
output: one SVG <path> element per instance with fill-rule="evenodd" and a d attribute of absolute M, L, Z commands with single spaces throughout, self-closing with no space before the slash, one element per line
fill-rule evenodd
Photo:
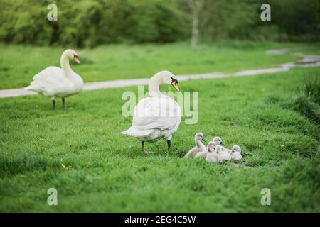
<path fill-rule="evenodd" d="M 33 82 L 26 89 L 46 96 L 55 96 L 65 87 L 65 79 L 65 74 L 61 68 L 50 66 L 36 74 L 33 77 Z"/>

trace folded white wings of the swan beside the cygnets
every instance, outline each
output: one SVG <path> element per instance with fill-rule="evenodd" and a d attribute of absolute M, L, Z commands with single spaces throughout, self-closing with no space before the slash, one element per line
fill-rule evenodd
<path fill-rule="evenodd" d="M 148 97 L 134 107 L 132 126 L 139 130 L 171 130 L 181 121 L 181 109 L 169 98 Z"/>

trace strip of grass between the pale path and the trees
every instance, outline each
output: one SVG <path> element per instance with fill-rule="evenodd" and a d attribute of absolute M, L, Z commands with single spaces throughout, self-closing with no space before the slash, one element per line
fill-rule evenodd
<path fill-rule="evenodd" d="M 266 55 L 274 48 L 314 52 L 320 43 L 225 42 L 190 48 L 188 43 L 168 45 L 107 45 L 78 50 L 80 65 L 73 65 L 85 82 L 150 77 L 170 69 L 176 74 L 235 72 L 274 67 L 297 60 L 293 55 Z M 60 67 L 64 48 L 0 44 L 0 89 L 26 87 L 45 67 Z"/>

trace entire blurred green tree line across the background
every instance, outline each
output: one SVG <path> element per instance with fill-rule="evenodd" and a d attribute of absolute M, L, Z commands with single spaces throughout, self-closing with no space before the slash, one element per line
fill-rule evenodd
<path fill-rule="evenodd" d="M 47 19 L 50 3 L 58 6 L 58 21 Z M 261 21 L 263 3 L 272 21 Z M 310 41 L 319 40 L 320 30 L 320 0 L 0 0 L 0 6 L 4 43 Z"/>

